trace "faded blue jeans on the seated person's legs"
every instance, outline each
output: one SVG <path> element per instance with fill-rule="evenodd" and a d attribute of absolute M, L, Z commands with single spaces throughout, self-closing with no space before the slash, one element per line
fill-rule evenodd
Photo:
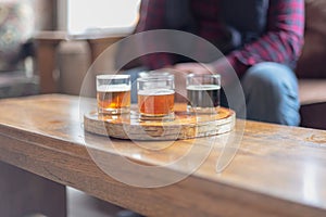
<path fill-rule="evenodd" d="M 137 102 L 136 79 L 142 71 L 146 71 L 146 68 L 134 68 L 125 72 L 125 74 L 131 76 L 133 103 Z M 238 93 L 233 92 L 233 88 L 228 88 L 227 91 L 227 98 L 234 98 L 230 107 L 239 114 L 238 117 L 281 125 L 299 125 L 298 84 L 292 69 L 278 63 L 259 63 L 246 72 L 240 82 L 244 101 L 236 99 Z M 225 100 L 222 98 L 223 106 L 228 104 Z M 244 103 L 247 115 L 240 111 L 243 108 Z"/>

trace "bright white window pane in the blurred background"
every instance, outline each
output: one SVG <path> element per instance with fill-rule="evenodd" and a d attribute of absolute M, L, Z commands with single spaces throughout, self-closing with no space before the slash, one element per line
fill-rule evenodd
<path fill-rule="evenodd" d="M 140 0 L 67 0 L 71 34 L 133 31 Z"/>

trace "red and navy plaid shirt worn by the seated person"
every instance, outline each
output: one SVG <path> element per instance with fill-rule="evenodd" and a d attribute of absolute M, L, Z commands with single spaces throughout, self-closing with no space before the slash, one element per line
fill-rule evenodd
<path fill-rule="evenodd" d="M 164 28 L 164 0 L 142 0 L 136 33 Z M 190 5 L 198 18 L 198 36 L 209 41 L 221 38 L 223 33 L 216 15 L 218 0 L 191 0 Z M 303 44 L 303 29 L 304 0 L 269 0 L 267 28 L 263 36 L 226 58 L 238 75 L 260 62 L 287 64 L 297 61 Z M 149 54 L 142 61 L 152 69 L 175 63 L 170 53 Z"/>

